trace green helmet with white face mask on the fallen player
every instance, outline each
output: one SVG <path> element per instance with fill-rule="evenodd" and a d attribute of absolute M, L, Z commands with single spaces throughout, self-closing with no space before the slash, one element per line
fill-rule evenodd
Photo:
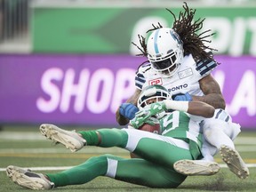
<path fill-rule="evenodd" d="M 148 105 L 148 100 L 156 98 L 156 102 L 161 100 L 172 100 L 171 93 L 168 92 L 164 86 L 161 85 L 149 85 L 145 87 L 141 93 L 137 102 L 138 108 L 144 108 Z"/>

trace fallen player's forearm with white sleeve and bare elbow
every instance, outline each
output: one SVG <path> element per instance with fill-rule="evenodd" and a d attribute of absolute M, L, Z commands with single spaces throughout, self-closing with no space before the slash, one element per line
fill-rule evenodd
<path fill-rule="evenodd" d="M 172 110 L 180 110 L 194 116 L 204 116 L 210 118 L 214 115 L 215 108 L 202 101 L 177 101 L 164 100 L 164 108 Z"/>

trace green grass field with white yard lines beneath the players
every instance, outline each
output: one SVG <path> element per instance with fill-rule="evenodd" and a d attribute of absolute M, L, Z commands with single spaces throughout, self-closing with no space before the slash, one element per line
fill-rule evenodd
<path fill-rule="evenodd" d="M 79 128 L 76 128 L 78 131 Z M 240 180 L 229 172 L 226 164 L 215 156 L 221 169 L 216 175 L 208 177 L 188 177 L 179 188 L 159 189 L 145 188 L 121 181 L 99 177 L 84 185 L 55 188 L 55 191 L 256 191 L 256 132 L 241 132 L 235 140 L 236 149 L 249 166 L 250 176 Z M 116 156 L 129 157 L 124 149 L 87 147 L 76 153 L 69 152 L 61 145 L 52 146 L 45 140 L 36 127 L 7 127 L 0 132 L 0 191 L 31 191 L 15 185 L 6 176 L 6 166 L 13 164 L 29 167 L 35 172 L 59 172 L 70 166 L 84 163 L 91 156 L 110 153 Z"/>

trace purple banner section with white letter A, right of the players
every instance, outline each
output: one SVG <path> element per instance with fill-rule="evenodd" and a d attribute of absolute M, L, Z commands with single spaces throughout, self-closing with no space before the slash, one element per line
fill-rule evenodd
<path fill-rule="evenodd" d="M 228 113 L 242 127 L 256 129 L 256 57 L 218 56 L 213 71 L 227 103 Z"/>

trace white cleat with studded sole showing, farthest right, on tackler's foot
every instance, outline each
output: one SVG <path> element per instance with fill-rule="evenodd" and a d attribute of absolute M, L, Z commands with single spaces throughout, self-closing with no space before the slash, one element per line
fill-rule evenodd
<path fill-rule="evenodd" d="M 249 176 L 249 169 L 236 149 L 222 145 L 220 147 L 220 155 L 222 160 L 228 165 L 229 170 L 234 172 L 237 177 L 245 179 Z"/>

